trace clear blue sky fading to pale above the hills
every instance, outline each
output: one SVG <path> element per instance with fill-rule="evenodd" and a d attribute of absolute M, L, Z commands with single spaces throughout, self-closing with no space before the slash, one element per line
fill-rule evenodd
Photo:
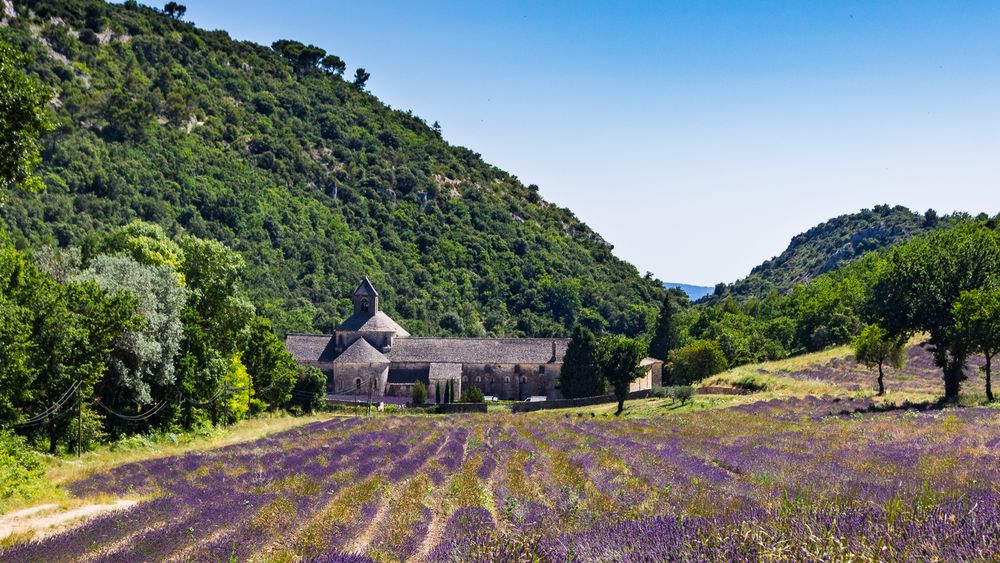
<path fill-rule="evenodd" d="M 186 4 L 365 67 L 667 281 L 732 281 L 880 203 L 1000 211 L 996 0 Z"/>

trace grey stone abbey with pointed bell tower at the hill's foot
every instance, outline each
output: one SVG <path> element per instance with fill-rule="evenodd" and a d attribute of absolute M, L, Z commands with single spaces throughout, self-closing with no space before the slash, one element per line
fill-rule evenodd
<path fill-rule="evenodd" d="M 412 336 L 379 307 L 379 293 L 364 278 L 351 296 L 354 313 L 333 334 L 289 334 L 286 349 L 297 362 L 327 376 L 328 398 L 405 402 L 423 382 L 434 389 L 454 385 L 455 396 L 471 387 L 500 400 L 559 399 L 557 386 L 568 338 L 442 338 Z M 631 391 L 660 385 L 663 363 L 642 361 L 645 375 Z"/>

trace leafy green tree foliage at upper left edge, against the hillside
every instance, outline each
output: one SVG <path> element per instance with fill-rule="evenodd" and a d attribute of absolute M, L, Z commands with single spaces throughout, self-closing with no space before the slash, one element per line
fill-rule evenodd
<path fill-rule="evenodd" d="M 0 41 L 0 189 L 45 187 L 34 171 L 42 161 L 39 139 L 52 130 L 52 92 L 24 72 L 27 64 L 26 55 Z"/>

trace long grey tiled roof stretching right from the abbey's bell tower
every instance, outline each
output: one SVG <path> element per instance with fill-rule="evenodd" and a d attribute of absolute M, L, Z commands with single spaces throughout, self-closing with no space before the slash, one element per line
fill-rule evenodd
<path fill-rule="evenodd" d="M 389 351 L 393 362 L 459 364 L 545 364 L 562 362 L 568 338 L 398 338 Z"/>

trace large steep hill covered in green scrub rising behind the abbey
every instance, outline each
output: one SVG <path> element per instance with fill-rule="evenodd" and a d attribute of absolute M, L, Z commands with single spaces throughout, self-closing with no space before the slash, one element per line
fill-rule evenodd
<path fill-rule="evenodd" d="M 48 187 L 0 209 L 21 246 L 86 247 L 135 219 L 217 239 L 280 332 L 331 330 L 363 275 L 421 335 L 564 335 L 578 320 L 635 335 L 655 315 L 656 281 L 572 212 L 382 104 L 323 49 L 131 2 L 2 8 L 0 38 L 57 92 Z"/>

